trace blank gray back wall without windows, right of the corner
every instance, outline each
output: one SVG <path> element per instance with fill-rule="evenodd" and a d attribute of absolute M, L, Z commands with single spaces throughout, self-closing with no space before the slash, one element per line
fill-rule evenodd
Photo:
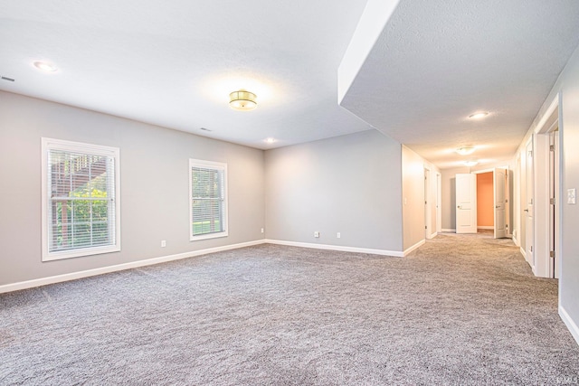
<path fill-rule="evenodd" d="M 375 130 L 266 151 L 267 239 L 402 251 L 401 159 Z"/>

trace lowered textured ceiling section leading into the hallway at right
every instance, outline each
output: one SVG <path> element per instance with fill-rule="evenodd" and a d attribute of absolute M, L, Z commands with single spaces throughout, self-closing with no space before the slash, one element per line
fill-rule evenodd
<path fill-rule="evenodd" d="M 577 44 L 576 0 L 401 0 L 341 106 L 441 168 L 499 162 Z"/>

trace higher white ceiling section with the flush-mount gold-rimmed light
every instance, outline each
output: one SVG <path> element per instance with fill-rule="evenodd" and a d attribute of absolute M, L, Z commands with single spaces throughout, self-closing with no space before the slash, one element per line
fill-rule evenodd
<path fill-rule="evenodd" d="M 258 148 L 354 133 L 370 126 L 337 105 L 336 74 L 364 6 L 4 0 L 0 89 Z M 252 112 L 228 106 L 242 88 Z"/>

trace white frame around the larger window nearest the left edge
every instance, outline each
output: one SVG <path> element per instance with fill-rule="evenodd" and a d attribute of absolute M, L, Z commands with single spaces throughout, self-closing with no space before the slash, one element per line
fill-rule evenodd
<path fill-rule="evenodd" d="M 67 249 L 50 251 L 49 242 L 51 240 L 52 224 L 49 224 L 50 196 L 49 196 L 49 165 L 48 154 L 51 150 L 70 151 L 75 153 L 86 153 L 90 155 L 106 155 L 114 159 L 114 221 L 110 225 L 114 226 L 114 243 L 98 247 L 84 247 L 77 249 Z M 120 250 L 120 152 L 118 147 L 99 146 L 85 144 L 81 142 L 71 142 L 62 139 L 42 138 L 42 242 L 43 242 L 43 261 L 52 261 L 58 259 L 71 259 L 81 256 L 98 255 L 101 253 L 118 252 Z"/>

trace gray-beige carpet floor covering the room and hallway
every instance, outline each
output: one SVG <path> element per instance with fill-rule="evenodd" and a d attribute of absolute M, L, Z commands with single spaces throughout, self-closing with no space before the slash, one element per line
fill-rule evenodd
<path fill-rule="evenodd" d="M 0 384 L 565 384 L 557 282 L 510 240 L 261 245 L 0 295 Z"/>

